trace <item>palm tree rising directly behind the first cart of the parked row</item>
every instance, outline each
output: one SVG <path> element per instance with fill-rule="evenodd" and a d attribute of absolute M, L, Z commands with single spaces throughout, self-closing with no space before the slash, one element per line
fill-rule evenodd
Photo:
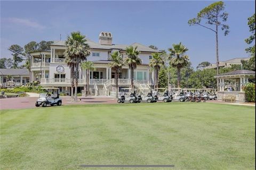
<path fill-rule="evenodd" d="M 141 64 L 142 61 L 139 58 L 139 54 L 140 52 L 137 51 L 137 46 L 133 47 L 133 46 L 129 46 L 126 47 L 126 54 L 127 57 L 124 59 L 124 62 L 129 65 L 129 69 L 131 70 L 131 86 L 133 88 L 133 75 L 134 75 L 134 69 L 137 68 L 137 64 Z"/>

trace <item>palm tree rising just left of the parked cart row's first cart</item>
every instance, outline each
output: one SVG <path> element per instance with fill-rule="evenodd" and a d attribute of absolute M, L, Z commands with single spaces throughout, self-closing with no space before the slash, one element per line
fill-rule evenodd
<path fill-rule="evenodd" d="M 116 98 L 118 98 L 118 78 L 119 72 L 124 65 L 123 59 L 118 51 L 113 52 L 111 54 L 111 62 L 109 63 L 109 67 L 115 71 L 115 84 L 116 84 Z"/>

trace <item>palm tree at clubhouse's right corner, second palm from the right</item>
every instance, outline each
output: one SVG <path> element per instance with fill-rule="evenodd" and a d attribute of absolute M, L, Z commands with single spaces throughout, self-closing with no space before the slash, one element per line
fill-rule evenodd
<path fill-rule="evenodd" d="M 149 66 L 154 70 L 155 88 L 158 88 L 158 71 L 162 66 L 164 66 L 164 60 L 160 53 L 152 54 L 152 59 L 149 62 Z"/>

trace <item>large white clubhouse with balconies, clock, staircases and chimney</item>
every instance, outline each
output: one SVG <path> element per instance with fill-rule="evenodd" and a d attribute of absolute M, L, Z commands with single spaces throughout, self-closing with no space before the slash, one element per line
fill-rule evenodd
<path fill-rule="evenodd" d="M 110 55 L 118 50 L 125 58 L 125 48 L 127 46 L 137 46 L 140 51 L 139 57 L 142 64 L 134 70 L 134 85 L 142 87 L 153 83 L 151 77 L 149 61 L 151 54 L 158 52 L 150 47 L 139 43 L 131 45 L 121 45 L 112 43 L 111 33 L 102 32 L 99 35 L 99 43 L 87 39 L 90 46 L 91 55 L 87 57 L 88 61 L 93 61 L 95 70 L 90 73 L 90 90 L 95 95 L 109 95 L 115 92 L 114 71 L 109 67 Z M 39 80 L 42 86 L 59 87 L 62 93 L 70 94 L 70 69 L 65 63 L 63 53 L 66 50 L 65 42 L 58 41 L 50 45 L 51 51 L 41 51 L 31 53 L 31 80 Z M 83 90 L 86 85 L 85 70 L 79 69 L 78 92 Z M 129 66 L 123 66 L 119 73 L 119 90 L 122 87 L 130 85 Z"/>

